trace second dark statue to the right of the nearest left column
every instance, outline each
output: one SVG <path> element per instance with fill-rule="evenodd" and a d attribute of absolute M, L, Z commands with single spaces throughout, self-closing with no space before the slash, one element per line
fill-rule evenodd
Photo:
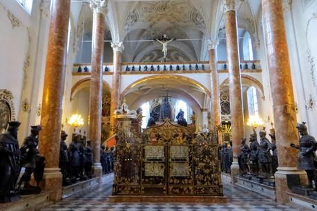
<path fill-rule="evenodd" d="M 72 142 L 68 148 L 69 162 L 70 162 L 70 176 L 73 183 L 77 181 L 80 170 L 80 156 L 79 156 L 79 134 L 75 134 Z"/>

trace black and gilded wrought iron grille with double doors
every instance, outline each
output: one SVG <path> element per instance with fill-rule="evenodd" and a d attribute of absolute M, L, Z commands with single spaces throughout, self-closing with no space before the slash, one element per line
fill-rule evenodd
<path fill-rule="evenodd" d="M 170 121 L 141 137 L 118 130 L 113 194 L 222 196 L 217 134 Z"/>

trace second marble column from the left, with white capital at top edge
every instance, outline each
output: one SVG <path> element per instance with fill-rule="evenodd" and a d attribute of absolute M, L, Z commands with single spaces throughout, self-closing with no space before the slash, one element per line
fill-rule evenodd
<path fill-rule="evenodd" d="M 93 9 L 93 46 L 91 55 L 90 99 L 88 139 L 93 146 L 93 174 L 102 177 L 100 163 L 100 144 L 102 136 L 102 69 L 104 55 L 104 31 L 106 3 L 105 1 L 90 1 Z"/>

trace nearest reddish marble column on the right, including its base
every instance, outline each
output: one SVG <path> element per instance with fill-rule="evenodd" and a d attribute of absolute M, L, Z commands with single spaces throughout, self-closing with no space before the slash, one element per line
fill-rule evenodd
<path fill-rule="evenodd" d="M 306 175 L 297 170 L 298 150 L 290 147 L 291 143 L 298 144 L 298 132 L 282 0 L 262 0 L 262 17 L 278 148 L 276 197 L 278 202 L 287 203 L 286 192 L 291 192 L 287 187 L 287 174 L 300 174 L 301 179 Z"/>

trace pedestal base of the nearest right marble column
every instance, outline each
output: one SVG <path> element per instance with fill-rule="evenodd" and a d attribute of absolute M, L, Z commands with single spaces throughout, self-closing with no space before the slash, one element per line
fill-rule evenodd
<path fill-rule="evenodd" d="M 300 174 L 300 183 L 307 183 L 307 174 L 304 170 L 293 167 L 278 167 L 274 174 L 276 183 L 276 201 L 278 203 L 289 203 L 287 192 L 291 192 L 287 185 L 287 174 Z"/>

